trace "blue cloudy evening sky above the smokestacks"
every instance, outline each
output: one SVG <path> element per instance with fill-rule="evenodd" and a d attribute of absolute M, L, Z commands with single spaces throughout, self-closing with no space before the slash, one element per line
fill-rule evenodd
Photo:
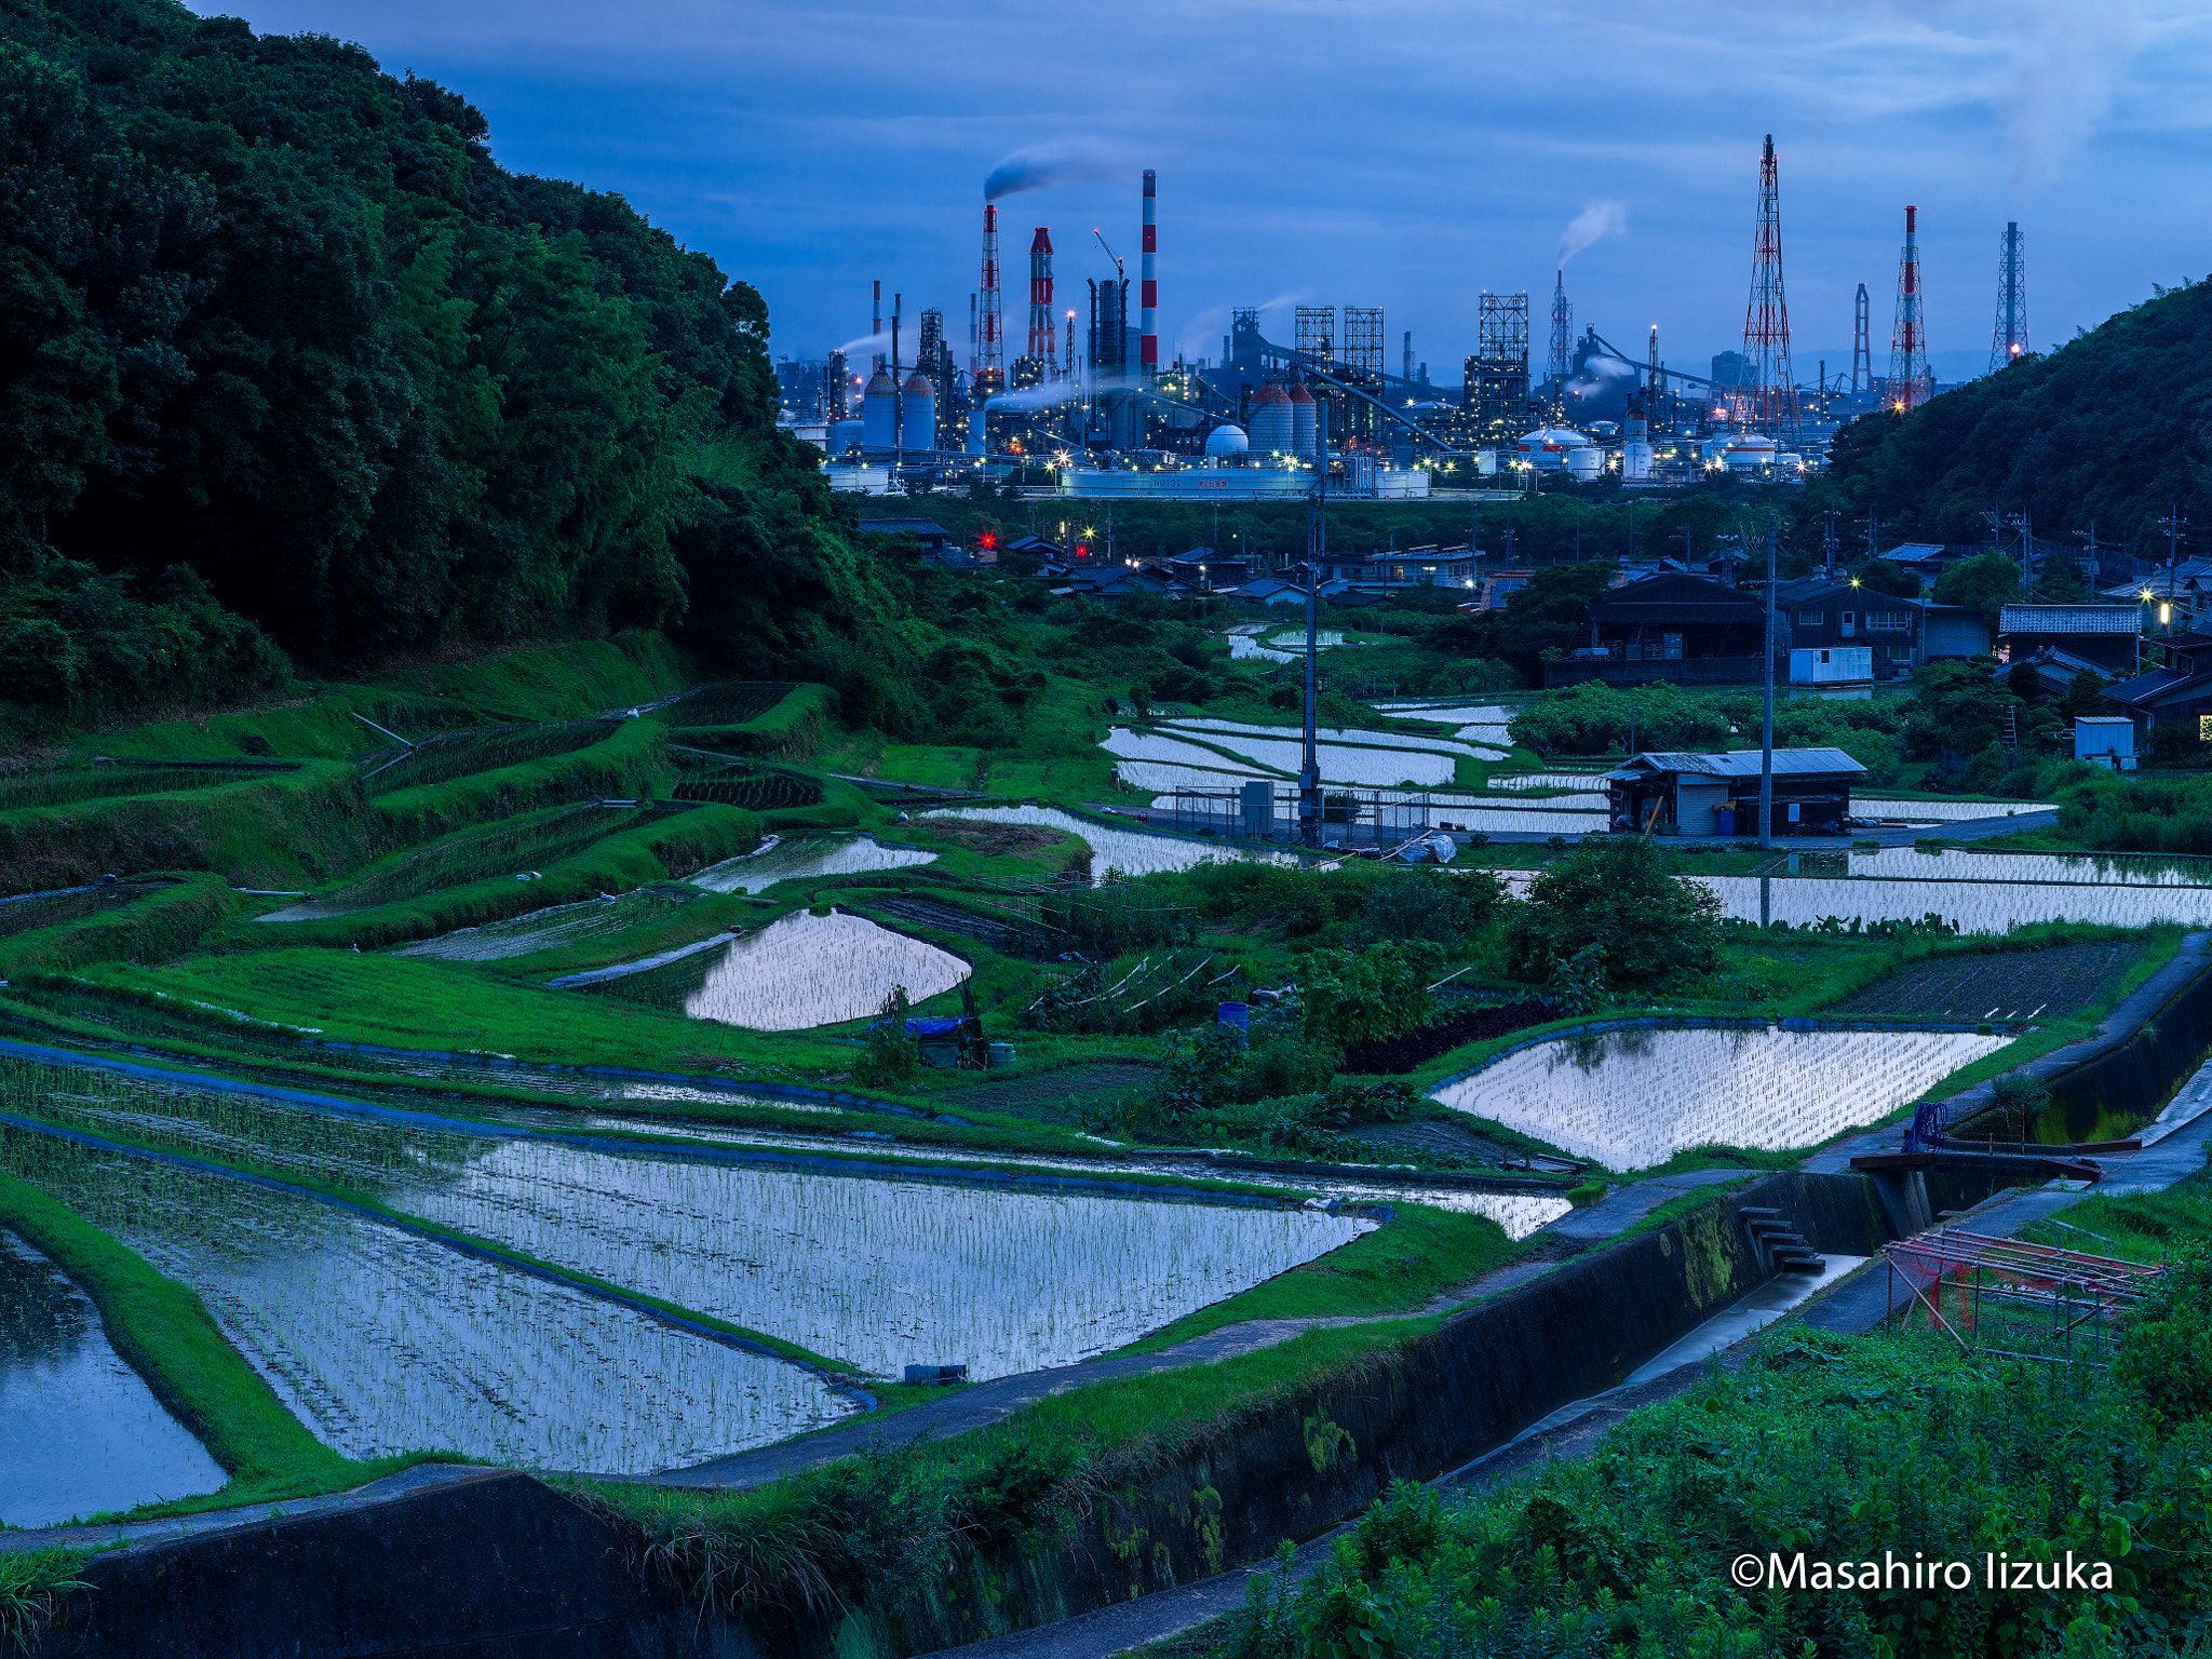
<path fill-rule="evenodd" d="M 217 9 L 199 0 L 201 9 Z M 1595 323 L 1683 367 L 1741 343 L 1759 142 L 1781 153 L 1798 378 L 1845 367 L 1851 290 L 1887 367 L 1902 206 L 1920 206 L 1942 378 L 1989 354 L 2020 219 L 2037 343 L 2212 270 L 2208 0 L 243 0 L 259 29 L 361 40 L 476 102 L 498 157 L 617 190 L 768 296 L 779 356 L 867 332 L 869 279 L 942 305 L 964 354 L 982 179 L 1075 157 L 1002 201 L 1006 330 L 1029 239 L 1060 307 L 1137 265 L 1159 170 L 1164 356 L 1214 356 L 1232 305 L 1383 305 L 1458 383 L 1480 290 L 1533 294 L 1562 234 Z M 2199 91 L 2190 91 L 2190 88 Z"/>

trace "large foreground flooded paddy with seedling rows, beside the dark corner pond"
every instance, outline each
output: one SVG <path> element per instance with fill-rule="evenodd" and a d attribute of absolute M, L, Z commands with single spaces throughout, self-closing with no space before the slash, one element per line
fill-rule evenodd
<path fill-rule="evenodd" d="M 852 1409 L 785 1360 L 305 1194 L 13 1126 L 0 1168 L 190 1285 L 347 1458 L 650 1473 Z"/>

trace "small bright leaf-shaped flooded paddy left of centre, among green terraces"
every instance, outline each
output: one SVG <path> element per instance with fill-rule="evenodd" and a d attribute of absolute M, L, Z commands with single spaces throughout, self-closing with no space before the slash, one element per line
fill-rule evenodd
<path fill-rule="evenodd" d="M 807 1031 L 874 1018 L 891 987 L 922 1002 L 969 973 L 951 951 L 865 916 L 794 911 L 712 951 L 608 975 L 595 989 L 726 1026 Z"/>

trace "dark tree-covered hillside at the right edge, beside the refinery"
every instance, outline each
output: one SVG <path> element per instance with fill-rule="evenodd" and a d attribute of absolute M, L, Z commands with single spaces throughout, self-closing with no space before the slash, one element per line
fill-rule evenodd
<path fill-rule="evenodd" d="M 1854 420 L 1809 507 L 1869 509 L 1882 544 L 1982 542 L 1982 513 L 2035 515 L 2039 538 L 2166 555 L 2152 520 L 2212 524 L 2212 279 L 2106 319 L 2053 352 L 1944 392 L 1911 416 Z M 1840 495 L 1840 502 L 1836 500 Z"/>

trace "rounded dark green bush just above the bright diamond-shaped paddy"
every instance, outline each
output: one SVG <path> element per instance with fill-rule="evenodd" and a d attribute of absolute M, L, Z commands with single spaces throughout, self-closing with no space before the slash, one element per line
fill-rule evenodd
<path fill-rule="evenodd" d="M 1506 920 L 1509 971 L 1551 982 L 1582 951 L 1604 951 L 1606 984 L 1670 987 L 1721 960 L 1721 900 L 1674 880 L 1666 854 L 1635 836 L 1575 847 L 1544 869 Z"/>

